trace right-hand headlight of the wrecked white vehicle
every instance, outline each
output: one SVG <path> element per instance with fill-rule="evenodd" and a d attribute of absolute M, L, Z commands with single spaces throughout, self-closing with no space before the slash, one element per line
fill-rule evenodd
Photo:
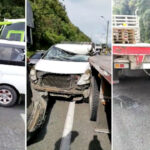
<path fill-rule="evenodd" d="M 84 85 L 90 83 L 91 71 L 87 70 L 77 82 L 77 85 Z"/>

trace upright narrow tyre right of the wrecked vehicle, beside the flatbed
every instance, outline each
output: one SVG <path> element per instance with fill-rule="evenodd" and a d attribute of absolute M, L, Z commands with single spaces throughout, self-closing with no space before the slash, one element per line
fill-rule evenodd
<path fill-rule="evenodd" d="M 89 96 L 89 105 L 90 105 L 90 120 L 96 121 L 97 110 L 99 104 L 99 85 L 94 76 L 91 77 L 91 90 Z"/>

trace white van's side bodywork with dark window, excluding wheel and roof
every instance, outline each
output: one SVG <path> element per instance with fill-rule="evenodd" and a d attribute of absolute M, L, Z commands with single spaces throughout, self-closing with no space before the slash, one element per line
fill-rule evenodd
<path fill-rule="evenodd" d="M 0 84 L 13 86 L 25 94 L 24 46 L 0 45 Z"/>

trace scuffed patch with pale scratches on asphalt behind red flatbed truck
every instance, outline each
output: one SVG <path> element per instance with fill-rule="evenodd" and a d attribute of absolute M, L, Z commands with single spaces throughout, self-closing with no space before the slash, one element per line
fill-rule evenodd
<path fill-rule="evenodd" d="M 120 107 L 124 109 L 132 109 L 139 106 L 135 100 L 124 95 L 114 97 L 114 104 L 120 105 Z"/>

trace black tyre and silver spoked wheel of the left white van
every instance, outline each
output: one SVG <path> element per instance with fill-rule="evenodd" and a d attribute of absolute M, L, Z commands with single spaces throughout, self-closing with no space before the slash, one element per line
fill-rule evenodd
<path fill-rule="evenodd" d="M 0 86 L 0 106 L 11 107 L 17 102 L 17 92 L 10 86 Z"/>

